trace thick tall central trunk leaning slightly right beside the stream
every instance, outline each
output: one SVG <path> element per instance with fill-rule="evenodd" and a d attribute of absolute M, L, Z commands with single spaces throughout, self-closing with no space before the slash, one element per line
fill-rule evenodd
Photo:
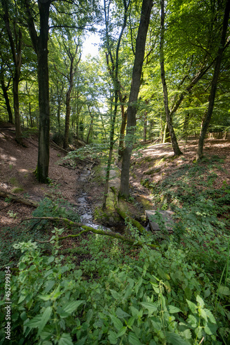
<path fill-rule="evenodd" d="M 140 18 L 140 25 L 137 32 L 131 92 L 128 99 L 126 147 L 124 148 L 122 157 L 121 186 L 119 190 L 120 195 L 126 198 L 129 197 L 129 168 L 131 163 L 131 152 L 133 150 L 136 126 L 137 97 L 140 90 L 146 36 L 148 32 L 148 25 L 150 21 L 152 7 L 152 0 L 142 1 L 142 13 Z"/>

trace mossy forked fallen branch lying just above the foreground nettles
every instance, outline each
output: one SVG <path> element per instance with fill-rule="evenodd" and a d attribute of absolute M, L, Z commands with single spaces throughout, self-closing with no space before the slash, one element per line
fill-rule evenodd
<path fill-rule="evenodd" d="M 91 226 L 86 226 L 82 223 L 77 223 L 76 221 L 70 221 L 67 218 L 61 218 L 61 217 L 31 217 L 31 218 L 24 218 L 21 221 L 26 221 L 26 220 L 32 220 L 32 219 L 44 219 L 44 220 L 50 220 L 50 221 L 64 221 L 64 223 L 68 224 L 71 227 L 77 227 L 77 228 L 83 228 L 84 230 L 80 231 L 80 233 L 75 234 L 75 235 L 67 235 L 64 237 L 59 237 L 59 240 L 62 239 L 66 239 L 66 238 L 74 238 L 74 237 L 79 237 L 80 235 L 84 234 L 84 233 L 95 233 L 97 235 L 104 235 L 104 236 L 109 236 L 109 237 L 113 237 L 116 239 L 121 239 L 124 242 L 128 242 L 129 244 L 133 244 L 133 246 L 143 246 L 141 241 L 136 241 L 136 239 L 131 239 L 128 238 L 124 235 L 120 235 L 119 233 L 113 233 L 112 231 L 104 231 L 104 230 L 99 230 L 99 229 L 95 229 L 95 228 L 91 228 Z M 45 242 L 50 242 L 50 240 L 45 241 Z M 44 243 L 44 242 L 42 242 Z M 145 244 L 146 246 L 150 247 L 151 249 L 155 249 L 157 250 L 157 245 L 155 244 Z"/>

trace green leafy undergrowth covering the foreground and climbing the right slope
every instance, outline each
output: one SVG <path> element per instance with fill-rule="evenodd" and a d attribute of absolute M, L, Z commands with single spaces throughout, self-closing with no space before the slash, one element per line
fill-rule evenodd
<path fill-rule="evenodd" d="M 6 282 L 11 288 L 0 302 L 4 325 L 6 298 L 12 302 L 8 343 L 229 344 L 230 190 L 226 183 L 213 188 L 216 159 L 146 184 L 155 205 L 170 206 L 177 221 L 171 235 L 161 221 L 162 237 L 140 235 L 128 224 L 141 249 L 95 234 L 66 248 L 59 237 L 73 229 L 30 222 L 28 229 L 40 231 L 41 241 L 44 230 L 52 239 L 48 248 L 21 237 L 12 243 L 22 256 L 17 268 L 6 265 L 1 272 L 1 291 Z M 203 179 L 204 167 L 209 173 Z M 77 221 L 68 206 L 50 199 L 34 213 L 42 215 Z M 151 250 L 151 243 L 160 244 L 159 250 Z"/>

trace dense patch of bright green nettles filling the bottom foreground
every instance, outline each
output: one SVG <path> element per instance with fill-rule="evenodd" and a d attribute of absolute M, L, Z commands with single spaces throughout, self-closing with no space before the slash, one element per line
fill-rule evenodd
<path fill-rule="evenodd" d="M 217 295 L 209 276 L 189 264 L 188 253 L 176 248 L 173 238 L 161 253 L 143 246 L 131 255 L 117 239 L 91 235 L 92 259 L 79 269 L 74 257 L 58 255 L 63 230 L 53 230 L 50 257 L 36 243 L 16 245 L 23 255 L 18 275 L 12 275 L 12 344 L 222 344 L 220 337 L 227 339 L 219 308 L 222 282 Z M 0 303 L 4 317 L 4 299 Z M 3 344 L 3 328 L 0 337 Z"/>

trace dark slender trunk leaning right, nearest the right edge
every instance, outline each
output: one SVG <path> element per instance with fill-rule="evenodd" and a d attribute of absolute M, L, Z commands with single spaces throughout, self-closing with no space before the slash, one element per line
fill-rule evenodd
<path fill-rule="evenodd" d="M 207 133 L 207 129 L 208 129 L 210 121 L 211 121 L 211 116 L 213 114 L 215 92 L 217 89 L 218 77 L 219 77 L 219 72 L 220 72 L 220 63 L 221 63 L 221 59 L 222 59 L 222 54 L 224 52 L 224 44 L 225 44 L 225 40 L 226 40 L 227 27 L 228 27 L 228 22 L 229 22 L 229 12 L 230 12 L 230 0 L 227 0 L 225 10 L 224 10 L 224 19 L 223 19 L 223 23 L 222 23 L 220 46 L 218 49 L 217 58 L 215 59 L 213 81 L 211 83 L 211 92 L 209 95 L 209 107 L 207 110 L 207 114 L 204 118 L 203 124 L 202 124 L 202 129 L 201 129 L 200 137 L 199 137 L 199 141 L 198 141 L 198 150 L 196 152 L 196 159 L 197 160 L 199 160 L 203 157 L 204 138 L 205 138 L 205 135 Z"/>

